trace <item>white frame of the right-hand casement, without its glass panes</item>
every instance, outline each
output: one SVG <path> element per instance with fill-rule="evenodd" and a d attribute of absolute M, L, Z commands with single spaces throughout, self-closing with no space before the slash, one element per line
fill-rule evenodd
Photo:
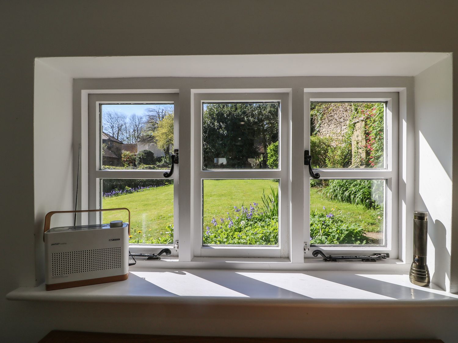
<path fill-rule="evenodd" d="M 306 149 L 310 151 L 310 105 L 311 102 L 386 102 L 385 107 L 385 167 L 384 168 L 323 168 L 314 169 L 320 179 L 385 179 L 384 232 L 385 246 L 313 246 L 311 250 L 322 250 L 327 254 L 370 254 L 387 252 L 390 258 L 398 258 L 398 161 L 399 161 L 399 95 L 397 92 L 327 92 L 304 94 Z M 312 156 L 313 158 L 313 156 Z M 304 237 L 310 237 L 310 180 L 305 173 L 305 228 Z M 308 204 L 308 205 L 307 205 Z M 306 256 L 310 257 L 310 255 Z"/>

